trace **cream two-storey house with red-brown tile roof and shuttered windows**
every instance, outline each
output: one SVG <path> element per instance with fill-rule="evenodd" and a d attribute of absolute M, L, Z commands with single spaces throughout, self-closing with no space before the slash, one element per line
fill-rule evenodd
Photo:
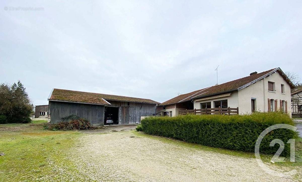
<path fill-rule="evenodd" d="M 230 82 L 174 97 L 157 107 L 157 114 L 175 116 L 179 110 L 239 108 L 239 114 L 283 110 L 291 114 L 291 88 L 294 84 L 278 67 L 253 72 Z"/>

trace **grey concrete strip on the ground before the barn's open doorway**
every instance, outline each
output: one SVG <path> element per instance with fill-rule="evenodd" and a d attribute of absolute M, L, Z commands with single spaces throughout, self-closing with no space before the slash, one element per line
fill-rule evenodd
<path fill-rule="evenodd" d="M 138 124 L 123 124 L 123 125 L 104 125 L 104 128 L 97 130 L 80 130 L 81 133 L 111 133 L 118 131 L 135 130 Z"/>

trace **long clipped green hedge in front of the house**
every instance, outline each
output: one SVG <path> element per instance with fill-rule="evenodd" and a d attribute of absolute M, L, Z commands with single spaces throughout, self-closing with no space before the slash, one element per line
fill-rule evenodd
<path fill-rule="evenodd" d="M 143 132 L 148 134 L 246 152 L 254 152 L 259 134 L 274 124 L 294 125 L 294 122 L 287 114 L 280 112 L 149 117 L 141 121 Z M 285 144 L 282 155 L 289 155 L 290 144 L 286 142 L 291 138 L 297 138 L 297 133 L 288 129 L 273 130 L 263 138 L 260 153 L 275 153 L 279 145 L 270 147 L 269 143 L 280 139 Z"/>

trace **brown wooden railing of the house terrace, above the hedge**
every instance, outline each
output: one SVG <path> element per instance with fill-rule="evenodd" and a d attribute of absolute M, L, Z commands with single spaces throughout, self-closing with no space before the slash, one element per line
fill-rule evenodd
<path fill-rule="evenodd" d="M 186 109 L 186 110 L 179 110 L 179 115 L 186 115 L 186 114 L 194 114 L 194 115 L 207 115 L 207 114 L 225 114 L 225 115 L 232 115 L 232 114 L 239 114 L 239 108 L 204 108 L 204 109 Z"/>

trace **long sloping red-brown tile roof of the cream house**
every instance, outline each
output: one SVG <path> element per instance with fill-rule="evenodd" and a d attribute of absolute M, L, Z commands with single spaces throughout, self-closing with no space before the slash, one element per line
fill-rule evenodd
<path fill-rule="evenodd" d="M 196 90 L 196 91 L 193 91 L 190 93 L 182 94 L 182 95 L 174 97 L 170 100 L 167 100 L 160 105 L 169 105 L 169 104 L 175 104 L 178 102 L 185 102 L 185 101 L 191 100 L 193 97 L 199 98 L 199 97 L 210 96 L 210 95 L 215 95 L 215 94 L 219 94 L 219 93 L 232 92 L 232 91 L 239 89 L 242 86 L 245 86 L 246 84 L 248 84 L 254 80 L 257 80 L 258 78 L 270 73 L 271 71 L 273 71 L 275 69 L 276 68 L 270 69 L 268 71 L 263 71 L 261 73 L 254 74 L 254 75 L 251 75 L 248 77 L 243 77 L 243 78 L 239 78 L 237 80 L 222 83 L 220 85 L 210 86 L 205 89 L 200 89 L 200 90 Z"/>

